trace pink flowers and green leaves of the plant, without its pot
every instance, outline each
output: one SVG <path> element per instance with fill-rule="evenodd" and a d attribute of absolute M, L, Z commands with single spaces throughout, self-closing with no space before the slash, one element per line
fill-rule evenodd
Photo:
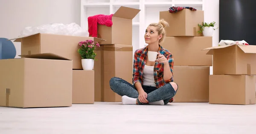
<path fill-rule="evenodd" d="M 95 60 L 96 53 L 94 50 L 96 47 L 99 47 L 98 42 L 94 42 L 93 40 L 86 40 L 83 42 L 79 42 L 78 53 L 81 55 L 82 59 L 93 59 Z"/>

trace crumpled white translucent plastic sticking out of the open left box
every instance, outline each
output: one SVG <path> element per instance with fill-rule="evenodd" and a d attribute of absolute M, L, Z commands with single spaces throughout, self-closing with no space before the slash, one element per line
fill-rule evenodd
<path fill-rule="evenodd" d="M 87 30 L 83 30 L 76 23 L 70 23 L 67 25 L 64 25 L 62 23 L 44 24 L 37 27 L 26 27 L 20 32 L 21 36 L 31 35 L 35 33 L 89 37 L 89 32 Z"/>

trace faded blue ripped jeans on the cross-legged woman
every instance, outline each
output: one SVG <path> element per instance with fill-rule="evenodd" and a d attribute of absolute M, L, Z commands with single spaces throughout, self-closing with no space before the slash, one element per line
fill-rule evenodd
<path fill-rule="evenodd" d="M 143 104 L 139 101 L 139 92 L 135 89 L 134 85 L 123 80 L 122 78 L 113 77 L 109 81 L 110 87 L 113 92 L 116 92 L 121 96 L 128 96 L 131 98 L 137 98 L 138 104 Z M 157 89 L 157 87 L 143 86 L 142 88 L 148 94 L 148 103 L 163 100 L 164 104 L 169 103 L 169 100 L 174 97 L 177 90 L 175 91 L 171 84 L 165 84 L 164 86 Z"/>

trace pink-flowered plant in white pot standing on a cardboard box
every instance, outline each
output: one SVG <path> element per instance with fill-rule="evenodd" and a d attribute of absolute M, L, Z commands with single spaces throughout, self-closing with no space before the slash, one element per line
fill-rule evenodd
<path fill-rule="evenodd" d="M 94 53 L 94 49 L 99 47 L 98 42 L 94 42 L 93 40 L 86 40 L 84 42 L 79 42 L 78 53 L 81 55 L 81 63 L 83 70 L 93 70 L 94 60 L 96 53 Z"/>

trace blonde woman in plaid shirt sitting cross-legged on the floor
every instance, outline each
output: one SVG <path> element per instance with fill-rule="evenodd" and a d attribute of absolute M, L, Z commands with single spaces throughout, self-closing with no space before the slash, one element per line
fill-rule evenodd
<path fill-rule="evenodd" d="M 165 36 L 166 21 L 151 23 L 145 31 L 147 47 L 134 53 L 133 84 L 113 77 L 111 89 L 122 96 L 122 104 L 165 105 L 173 101 L 178 86 L 173 82 L 172 53 L 160 46 Z M 158 52 L 156 61 L 149 61 L 148 51 Z"/>

